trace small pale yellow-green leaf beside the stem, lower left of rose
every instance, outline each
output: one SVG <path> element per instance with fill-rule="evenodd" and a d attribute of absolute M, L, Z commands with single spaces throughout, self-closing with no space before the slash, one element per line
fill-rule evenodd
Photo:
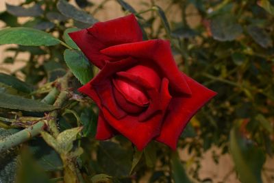
<path fill-rule="evenodd" d="M 69 151 L 73 149 L 73 141 L 76 140 L 77 134 L 79 134 L 82 129 L 83 127 L 74 127 L 65 130 L 57 136 L 56 140 L 58 141 L 58 147 L 62 153 L 69 153 Z"/>

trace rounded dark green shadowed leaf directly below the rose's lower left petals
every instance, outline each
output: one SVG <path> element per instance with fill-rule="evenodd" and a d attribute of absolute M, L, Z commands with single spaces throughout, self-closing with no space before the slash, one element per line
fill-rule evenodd
<path fill-rule="evenodd" d="M 110 141 L 101 141 L 97 160 L 102 171 L 114 177 L 129 175 L 132 167 L 132 151 Z M 111 166 L 110 166 L 111 164 Z"/>

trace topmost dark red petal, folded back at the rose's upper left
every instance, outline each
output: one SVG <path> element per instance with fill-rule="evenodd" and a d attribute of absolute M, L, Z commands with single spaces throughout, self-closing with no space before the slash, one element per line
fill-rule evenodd
<path fill-rule="evenodd" d="M 106 22 L 95 23 L 88 29 L 69 33 L 88 60 L 102 69 L 105 60 L 112 58 L 100 53 L 101 49 L 142 40 L 142 30 L 133 14 Z"/>

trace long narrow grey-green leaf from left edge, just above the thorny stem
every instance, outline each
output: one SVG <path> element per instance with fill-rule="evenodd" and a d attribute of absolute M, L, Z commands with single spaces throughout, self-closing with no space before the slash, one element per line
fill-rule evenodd
<path fill-rule="evenodd" d="M 0 108 L 8 108 L 13 110 L 25 110 L 31 112 L 44 112 L 55 110 L 55 106 L 41 103 L 40 101 L 18 97 L 0 93 Z"/>

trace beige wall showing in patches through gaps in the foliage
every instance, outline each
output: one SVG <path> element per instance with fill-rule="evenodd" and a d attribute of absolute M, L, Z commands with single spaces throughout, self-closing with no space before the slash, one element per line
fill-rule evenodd
<path fill-rule="evenodd" d="M 19 3 L 23 2 L 24 0 L 0 0 L 0 12 L 5 10 L 5 2 L 10 3 L 12 5 L 18 5 Z M 93 0 L 92 2 L 98 5 L 101 3 L 102 0 Z M 129 4 L 131 4 L 137 11 L 139 10 L 145 10 L 145 5 L 142 4 L 142 1 L 137 1 L 137 0 L 125 0 Z M 146 1 L 149 2 L 149 1 Z M 166 8 L 167 5 L 169 5 L 169 0 L 158 0 L 156 1 L 160 7 L 163 9 Z M 96 6 L 95 6 L 96 7 Z M 191 9 L 191 7 L 190 7 Z M 114 0 L 109 1 L 108 3 L 105 4 L 104 10 L 100 10 L 95 16 L 99 21 L 105 21 L 109 19 L 114 19 L 119 16 L 123 16 L 124 13 L 121 10 L 121 7 L 119 6 L 118 3 L 116 3 Z M 180 12 L 179 8 L 177 7 L 172 7 L 171 13 L 167 14 L 168 19 L 172 21 L 180 21 Z M 26 18 L 20 19 L 20 21 L 25 21 Z M 191 23 L 192 27 L 195 27 L 197 24 L 199 24 L 199 16 L 189 16 L 188 17 L 188 22 Z M 0 23 L 0 27 L 3 27 L 3 23 Z M 14 45 L 16 46 L 16 45 Z M 10 64 L 1 64 L 2 60 L 6 56 L 12 56 L 10 53 L 3 53 L 3 49 L 5 49 L 6 46 L 0 46 L 0 72 L 5 72 L 5 73 L 10 73 L 11 71 L 15 71 L 16 69 L 20 68 L 25 64 L 24 61 L 18 62 L 16 66 L 10 65 Z M 18 56 L 21 60 L 27 60 L 27 54 L 22 54 L 21 56 Z M 19 75 L 19 77 L 22 77 Z M 23 78 L 23 77 L 22 77 Z M 215 149 L 215 151 L 218 152 L 218 149 Z M 231 173 L 234 167 L 234 164 L 231 160 L 231 157 L 229 155 L 221 156 L 219 164 L 215 164 L 214 161 L 212 160 L 212 151 L 206 151 L 203 154 L 203 160 L 201 160 L 201 171 L 200 175 L 201 178 L 212 178 L 214 180 L 214 183 L 216 182 L 223 182 L 224 178 L 226 179 L 225 182 L 229 183 L 237 183 L 239 182 L 236 180 L 236 174 Z M 180 151 L 180 156 L 182 160 L 186 161 L 188 164 L 188 168 L 192 166 L 192 161 L 194 161 L 194 157 L 189 156 L 186 153 L 186 150 Z M 274 160 L 268 159 L 266 162 L 265 167 L 274 167 Z M 268 174 L 267 176 L 270 176 Z M 268 182 L 266 180 L 266 176 L 263 175 L 264 177 L 264 182 Z"/>

